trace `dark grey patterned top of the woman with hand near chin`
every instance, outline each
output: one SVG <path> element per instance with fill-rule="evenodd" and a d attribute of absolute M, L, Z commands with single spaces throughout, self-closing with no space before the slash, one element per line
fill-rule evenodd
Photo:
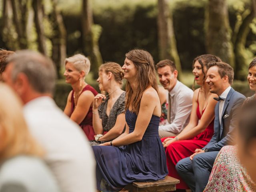
<path fill-rule="evenodd" d="M 116 124 L 116 118 L 121 113 L 124 113 L 125 108 L 125 92 L 123 92 L 116 102 L 114 103 L 112 109 L 110 110 L 109 116 L 107 115 L 109 97 L 98 107 L 99 116 L 102 119 L 102 127 L 104 131 L 109 131 Z"/>

